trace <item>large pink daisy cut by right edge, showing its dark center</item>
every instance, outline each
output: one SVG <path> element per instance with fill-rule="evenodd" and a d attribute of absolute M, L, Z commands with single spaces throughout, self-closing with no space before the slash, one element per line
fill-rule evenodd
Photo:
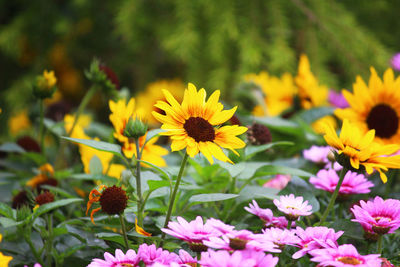
<path fill-rule="evenodd" d="M 360 206 L 351 208 L 355 219 L 367 232 L 377 234 L 394 233 L 400 227 L 400 201 L 397 199 L 383 200 L 375 197 L 372 201 L 360 201 Z"/>

